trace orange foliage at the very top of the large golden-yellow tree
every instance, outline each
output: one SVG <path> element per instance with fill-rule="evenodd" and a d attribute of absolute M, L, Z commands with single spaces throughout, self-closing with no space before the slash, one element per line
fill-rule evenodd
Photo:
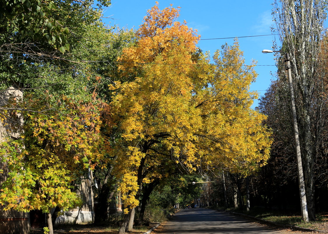
<path fill-rule="evenodd" d="M 156 4 L 148 11 L 144 23 L 140 25 L 136 35 L 139 37 L 136 46 L 125 48 L 118 59 L 124 62 L 119 69 L 124 71 L 122 75 L 137 73 L 138 65 L 135 63 L 179 63 L 174 60 L 172 54 L 181 54 L 186 60 L 191 58 L 191 53 L 196 49 L 199 40 L 195 30 L 188 28 L 186 23 L 175 22 L 179 16 L 179 8 L 158 9 Z M 158 58 L 157 56 L 161 56 Z M 167 61 L 167 58 L 173 58 Z"/>

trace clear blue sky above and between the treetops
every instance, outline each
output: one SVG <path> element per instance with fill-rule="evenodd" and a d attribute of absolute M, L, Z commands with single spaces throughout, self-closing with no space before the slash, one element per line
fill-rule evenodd
<path fill-rule="evenodd" d="M 271 4 L 273 0 L 159 0 L 158 2 L 160 9 L 170 6 L 171 3 L 173 7 L 181 7 L 178 20 L 180 22 L 186 20 L 189 27 L 197 29 L 201 39 L 272 34 Z M 149 0 L 112 0 L 112 5 L 104 11 L 104 16 L 113 19 L 104 19 L 104 22 L 109 25 L 118 25 L 120 28 L 137 29 L 147 10 L 154 5 L 155 1 Z M 272 41 L 278 43 L 278 40 L 279 37 L 274 35 L 239 38 L 245 63 L 250 64 L 254 59 L 258 65 L 275 65 L 273 54 L 263 54 L 261 51 L 271 49 Z M 210 51 L 213 54 L 226 42 L 232 45 L 234 39 L 201 40 L 198 46 L 203 51 Z M 270 73 L 275 73 L 277 68 L 256 66 L 255 70 L 258 76 L 250 90 L 258 90 L 261 96 L 270 85 L 272 79 Z M 257 101 L 253 107 L 255 106 L 257 106 Z"/>

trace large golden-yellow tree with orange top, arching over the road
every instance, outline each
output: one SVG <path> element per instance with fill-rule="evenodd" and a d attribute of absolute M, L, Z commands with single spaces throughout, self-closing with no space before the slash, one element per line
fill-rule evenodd
<path fill-rule="evenodd" d="M 159 10 L 156 4 L 148 11 L 137 42 L 118 59 L 122 77 L 131 81 L 110 86 L 113 130 L 119 133 L 114 174 L 126 213 L 139 203 L 141 182 L 163 177 L 152 168 L 167 160 L 187 171 L 247 174 L 268 158 L 265 117 L 251 109 L 256 93 L 248 91 L 254 65 L 244 65 L 237 42 L 223 46 L 210 64 L 196 51 L 199 35 L 175 21 L 178 16 L 179 8 L 172 6 Z M 139 170 L 149 173 L 140 178 Z"/>

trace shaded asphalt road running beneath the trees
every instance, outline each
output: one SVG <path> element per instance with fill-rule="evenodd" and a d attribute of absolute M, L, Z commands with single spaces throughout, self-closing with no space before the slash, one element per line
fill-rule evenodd
<path fill-rule="evenodd" d="M 282 230 L 252 223 L 241 217 L 232 216 L 204 208 L 180 210 L 171 221 L 163 225 L 163 234 L 287 234 Z"/>

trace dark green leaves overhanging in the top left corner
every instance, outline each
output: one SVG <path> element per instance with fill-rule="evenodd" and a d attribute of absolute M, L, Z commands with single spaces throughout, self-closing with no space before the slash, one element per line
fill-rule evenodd
<path fill-rule="evenodd" d="M 106 2 L 109 1 L 103 1 L 104 4 Z M 74 4 L 74 13 L 78 15 L 74 19 L 68 16 L 68 12 L 63 12 L 72 11 L 71 1 L 0 0 L 0 4 L 3 6 L 0 9 L 0 22 L 7 31 L 16 28 L 23 37 L 30 37 L 34 42 L 45 42 L 61 53 L 70 50 L 70 30 L 65 24 L 74 27 L 74 21 L 97 21 L 100 16 L 98 11 L 88 5 L 88 1 Z M 84 21 L 78 19 L 80 16 Z"/>

